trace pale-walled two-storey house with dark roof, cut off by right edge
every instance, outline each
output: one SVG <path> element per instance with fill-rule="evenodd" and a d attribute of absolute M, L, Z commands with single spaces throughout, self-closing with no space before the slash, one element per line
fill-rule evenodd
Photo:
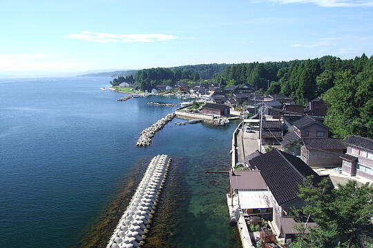
<path fill-rule="evenodd" d="M 347 153 L 341 155 L 342 172 L 373 180 L 373 140 L 354 135 L 344 142 Z"/>

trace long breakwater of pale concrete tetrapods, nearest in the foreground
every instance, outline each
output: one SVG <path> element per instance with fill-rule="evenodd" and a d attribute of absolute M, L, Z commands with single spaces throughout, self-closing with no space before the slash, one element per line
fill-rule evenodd
<path fill-rule="evenodd" d="M 140 247 L 145 243 L 170 166 L 167 155 L 151 160 L 106 248 Z"/>

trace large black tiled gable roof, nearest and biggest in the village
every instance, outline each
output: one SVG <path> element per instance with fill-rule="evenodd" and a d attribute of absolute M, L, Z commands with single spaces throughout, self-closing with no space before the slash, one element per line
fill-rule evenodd
<path fill-rule="evenodd" d="M 298 198 L 299 185 L 307 176 L 314 176 L 315 182 L 321 180 L 300 158 L 274 149 L 249 161 L 260 170 L 262 178 L 274 195 L 277 203 L 282 205 Z"/>

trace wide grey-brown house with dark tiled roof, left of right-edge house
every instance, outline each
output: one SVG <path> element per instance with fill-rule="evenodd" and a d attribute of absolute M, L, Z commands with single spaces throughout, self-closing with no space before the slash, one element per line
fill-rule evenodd
<path fill-rule="evenodd" d="M 345 149 L 342 138 L 303 138 L 300 159 L 310 167 L 339 167 Z"/>

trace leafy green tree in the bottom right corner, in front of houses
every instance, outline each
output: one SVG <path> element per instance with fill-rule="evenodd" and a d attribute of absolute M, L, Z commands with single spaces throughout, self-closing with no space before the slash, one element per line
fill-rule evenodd
<path fill-rule="evenodd" d="M 329 178 L 316 187 L 312 178 L 300 186 L 299 197 L 305 201 L 303 213 L 312 216 L 317 227 L 300 234 L 291 247 L 361 247 L 362 238 L 372 231 L 373 187 L 358 186 L 350 180 L 331 189 Z"/>

